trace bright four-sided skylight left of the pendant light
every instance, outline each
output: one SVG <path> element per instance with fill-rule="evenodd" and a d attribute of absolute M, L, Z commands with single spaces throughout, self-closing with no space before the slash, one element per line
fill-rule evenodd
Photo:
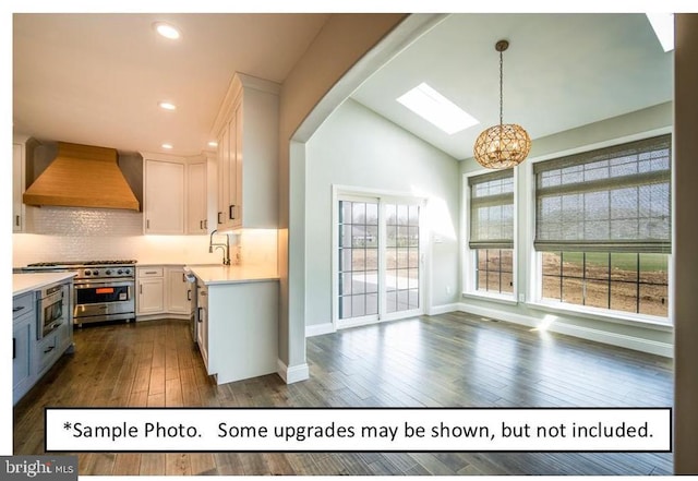
<path fill-rule="evenodd" d="M 453 101 L 421 83 L 397 98 L 408 109 L 446 132 L 448 135 L 480 123 Z"/>

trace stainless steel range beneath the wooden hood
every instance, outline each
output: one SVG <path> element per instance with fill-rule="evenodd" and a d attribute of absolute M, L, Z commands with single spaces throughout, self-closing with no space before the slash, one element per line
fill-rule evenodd
<path fill-rule="evenodd" d="M 41 262 L 24 272 L 76 273 L 73 279 L 73 322 L 135 318 L 136 261 Z"/>

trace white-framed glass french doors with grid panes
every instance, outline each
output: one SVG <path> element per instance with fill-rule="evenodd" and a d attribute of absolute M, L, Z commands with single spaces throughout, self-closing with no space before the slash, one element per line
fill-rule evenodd
<path fill-rule="evenodd" d="M 421 207 L 410 197 L 337 196 L 336 327 L 423 313 Z"/>

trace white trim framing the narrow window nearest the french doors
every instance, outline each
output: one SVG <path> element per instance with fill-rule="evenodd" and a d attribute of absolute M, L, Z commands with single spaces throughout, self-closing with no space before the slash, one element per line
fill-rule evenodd
<path fill-rule="evenodd" d="M 471 172 L 467 172 L 462 175 L 462 187 L 461 187 L 461 205 L 460 209 L 460 225 L 461 225 L 461 238 L 462 245 L 460 248 L 460 252 L 464 255 L 464 262 L 461 263 L 461 297 L 470 297 L 476 299 L 483 300 L 492 300 L 497 302 L 504 302 L 507 304 L 516 304 L 518 298 L 518 255 L 517 255 L 517 246 L 518 246 L 518 167 L 514 167 L 514 249 L 512 250 L 512 280 L 514 282 L 512 293 L 494 293 L 483 290 L 478 290 L 476 285 L 476 251 L 470 249 L 469 240 L 470 240 L 470 185 L 468 184 L 468 179 L 471 177 L 480 176 L 482 173 L 491 172 L 489 169 L 479 169 L 473 170 Z"/>

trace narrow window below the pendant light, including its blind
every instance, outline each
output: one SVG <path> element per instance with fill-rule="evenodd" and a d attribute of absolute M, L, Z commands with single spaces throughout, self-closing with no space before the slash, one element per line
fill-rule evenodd
<path fill-rule="evenodd" d="M 468 179 L 474 289 L 514 293 L 514 169 Z"/>

